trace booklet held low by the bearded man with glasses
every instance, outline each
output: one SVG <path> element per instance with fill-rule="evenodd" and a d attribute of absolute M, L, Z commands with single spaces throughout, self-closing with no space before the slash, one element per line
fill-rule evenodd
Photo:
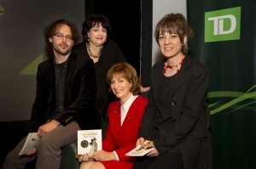
<path fill-rule="evenodd" d="M 32 149 L 38 149 L 39 140 L 37 132 L 29 132 L 19 155 L 26 155 Z"/>

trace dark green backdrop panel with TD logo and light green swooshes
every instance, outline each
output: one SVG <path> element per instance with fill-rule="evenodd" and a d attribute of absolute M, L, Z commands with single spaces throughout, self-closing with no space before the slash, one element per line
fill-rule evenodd
<path fill-rule="evenodd" d="M 256 1 L 188 0 L 190 54 L 210 69 L 214 169 L 256 168 Z"/>

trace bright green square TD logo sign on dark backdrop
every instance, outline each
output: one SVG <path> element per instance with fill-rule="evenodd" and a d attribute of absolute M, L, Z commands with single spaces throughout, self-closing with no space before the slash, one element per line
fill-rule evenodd
<path fill-rule="evenodd" d="M 205 42 L 240 39 L 241 7 L 226 8 L 205 14 Z"/>

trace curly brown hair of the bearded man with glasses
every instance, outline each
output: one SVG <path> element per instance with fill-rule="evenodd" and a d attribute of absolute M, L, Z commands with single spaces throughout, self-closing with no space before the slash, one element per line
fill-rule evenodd
<path fill-rule="evenodd" d="M 74 45 L 79 43 L 81 39 L 81 34 L 77 28 L 76 25 L 73 24 L 73 22 L 65 19 L 55 20 L 54 22 L 50 23 L 46 27 L 44 27 L 44 41 L 51 46 L 52 43 L 49 42 L 49 38 L 52 38 L 55 34 L 55 31 L 61 26 L 61 25 L 67 25 L 70 27 L 72 37 L 73 37 L 73 43 Z"/>

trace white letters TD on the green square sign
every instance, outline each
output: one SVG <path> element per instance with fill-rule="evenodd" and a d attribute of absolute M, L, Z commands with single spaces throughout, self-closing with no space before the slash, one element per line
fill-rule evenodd
<path fill-rule="evenodd" d="M 230 19 L 230 30 L 228 31 L 224 31 L 224 19 Z M 232 14 L 212 17 L 212 18 L 208 18 L 208 20 L 213 20 L 214 35 L 229 34 L 236 30 L 236 17 Z"/>

